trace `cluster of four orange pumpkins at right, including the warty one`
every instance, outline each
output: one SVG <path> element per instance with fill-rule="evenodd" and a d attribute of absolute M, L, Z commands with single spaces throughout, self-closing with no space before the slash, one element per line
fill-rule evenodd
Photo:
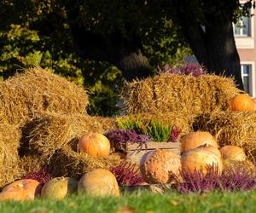
<path fill-rule="evenodd" d="M 209 165 L 215 166 L 220 175 L 227 161 L 244 162 L 247 156 L 241 147 L 224 146 L 218 149 L 214 137 L 203 131 L 191 132 L 181 138 L 181 157 L 172 150 L 155 150 L 146 153 L 140 163 L 143 180 L 148 183 L 169 183 L 172 174 L 193 174 L 201 171 L 207 175 Z M 249 163 L 247 163 L 249 164 Z M 251 163 L 253 165 L 253 163 Z"/>

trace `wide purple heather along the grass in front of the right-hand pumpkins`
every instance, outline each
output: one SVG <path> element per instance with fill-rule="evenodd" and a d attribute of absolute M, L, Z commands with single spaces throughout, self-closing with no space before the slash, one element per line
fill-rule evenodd
<path fill-rule="evenodd" d="M 202 170 L 181 172 L 182 178 L 172 174 L 173 186 L 180 193 L 206 193 L 209 191 L 237 191 L 256 188 L 256 176 L 252 176 L 246 168 L 224 170 L 220 175 L 218 168 L 209 166 L 207 176 Z"/>

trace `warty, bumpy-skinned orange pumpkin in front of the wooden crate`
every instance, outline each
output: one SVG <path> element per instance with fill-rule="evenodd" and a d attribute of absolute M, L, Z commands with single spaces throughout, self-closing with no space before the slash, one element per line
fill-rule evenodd
<path fill-rule="evenodd" d="M 155 150 L 143 155 L 140 171 L 143 180 L 148 183 L 167 183 L 172 173 L 179 176 L 180 157 L 172 150 Z"/>

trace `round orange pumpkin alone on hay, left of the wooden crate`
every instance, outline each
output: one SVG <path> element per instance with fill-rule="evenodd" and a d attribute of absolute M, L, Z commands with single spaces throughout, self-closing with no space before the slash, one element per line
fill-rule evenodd
<path fill-rule="evenodd" d="M 106 136 L 90 132 L 81 137 L 79 151 L 88 153 L 93 157 L 108 157 L 110 153 L 110 142 Z"/>

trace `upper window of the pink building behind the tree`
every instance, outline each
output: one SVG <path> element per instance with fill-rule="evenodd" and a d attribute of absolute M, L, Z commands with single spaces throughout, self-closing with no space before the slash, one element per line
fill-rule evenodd
<path fill-rule="evenodd" d="M 242 17 L 240 22 L 234 26 L 234 33 L 236 37 L 250 37 L 251 36 L 251 18 Z"/>

